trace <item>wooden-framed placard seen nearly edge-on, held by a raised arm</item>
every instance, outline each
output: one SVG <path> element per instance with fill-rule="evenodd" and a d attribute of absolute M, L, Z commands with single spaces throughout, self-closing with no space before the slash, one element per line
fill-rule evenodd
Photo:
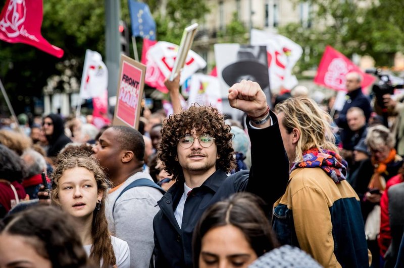
<path fill-rule="evenodd" d="M 181 43 L 178 48 L 178 54 L 175 58 L 173 71 L 170 75 L 170 81 L 173 81 L 174 78 L 181 72 L 181 69 L 184 67 L 186 56 L 188 55 L 188 51 L 191 48 L 193 38 L 195 37 L 196 30 L 198 28 L 198 24 L 194 23 L 184 29 L 181 37 Z"/>

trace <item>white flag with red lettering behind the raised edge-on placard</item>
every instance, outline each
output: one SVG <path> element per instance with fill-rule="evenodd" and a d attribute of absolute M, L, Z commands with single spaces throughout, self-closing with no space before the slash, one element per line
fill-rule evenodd
<path fill-rule="evenodd" d="M 168 77 L 173 70 L 178 48 L 179 46 L 173 43 L 159 41 L 154 46 L 150 47 L 146 56 L 156 62 L 164 77 Z M 189 50 L 185 59 L 184 68 L 181 71 L 180 85 L 196 71 L 205 68 L 205 66 L 206 61 L 194 51 Z"/>

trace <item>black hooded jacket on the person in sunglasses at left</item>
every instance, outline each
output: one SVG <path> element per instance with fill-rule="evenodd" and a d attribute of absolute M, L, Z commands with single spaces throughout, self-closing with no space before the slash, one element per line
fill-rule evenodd
<path fill-rule="evenodd" d="M 51 113 L 45 116 L 45 118 L 46 117 L 51 118 L 54 124 L 54 132 L 52 135 L 46 135 L 46 139 L 49 142 L 46 156 L 54 157 L 65 148 L 66 144 L 71 143 L 72 141 L 65 135 L 65 126 L 60 115 Z"/>

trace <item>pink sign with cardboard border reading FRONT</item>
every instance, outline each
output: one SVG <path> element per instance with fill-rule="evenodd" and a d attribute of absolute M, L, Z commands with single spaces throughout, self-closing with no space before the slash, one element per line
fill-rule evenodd
<path fill-rule="evenodd" d="M 113 125 L 128 125 L 135 129 L 139 127 L 145 73 L 145 65 L 121 55 Z"/>

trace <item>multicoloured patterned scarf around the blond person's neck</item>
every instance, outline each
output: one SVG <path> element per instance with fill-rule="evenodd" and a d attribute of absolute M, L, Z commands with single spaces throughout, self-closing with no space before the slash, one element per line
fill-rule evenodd
<path fill-rule="evenodd" d="M 313 148 L 303 152 L 303 161 L 294 163 L 290 172 L 299 167 L 320 167 L 335 183 L 339 183 L 345 179 L 347 166 L 348 164 L 339 154 L 325 149 L 319 152 L 317 148 Z"/>

